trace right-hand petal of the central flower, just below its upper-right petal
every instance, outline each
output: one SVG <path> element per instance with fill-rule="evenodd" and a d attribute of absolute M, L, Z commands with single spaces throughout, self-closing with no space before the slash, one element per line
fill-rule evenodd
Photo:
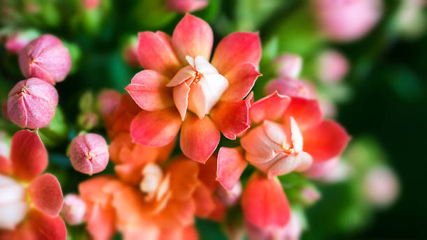
<path fill-rule="evenodd" d="M 240 63 L 234 66 L 224 77 L 228 80 L 229 87 L 221 97 L 223 101 L 237 101 L 248 95 L 250 89 L 257 77 L 262 74 L 258 73 L 253 63 Z"/>

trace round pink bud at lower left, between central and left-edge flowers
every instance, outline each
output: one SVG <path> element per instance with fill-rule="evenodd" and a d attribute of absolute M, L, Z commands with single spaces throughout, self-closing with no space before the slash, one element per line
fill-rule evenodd
<path fill-rule="evenodd" d="M 101 135 L 78 135 L 70 144 L 71 165 L 77 172 L 89 175 L 102 172 L 107 167 L 108 158 L 108 145 Z"/>

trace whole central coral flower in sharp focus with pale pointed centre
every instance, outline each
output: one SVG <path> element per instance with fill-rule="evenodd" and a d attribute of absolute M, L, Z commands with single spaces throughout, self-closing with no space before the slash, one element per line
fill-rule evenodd
<path fill-rule="evenodd" d="M 165 146 L 181 129 L 184 155 L 204 163 L 218 146 L 220 132 L 234 140 L 249 128 L 249 106 L 242 99 L 260 76 L 260 38 L 232 33 L 218 43 L 211 59 L 212 45 L 209 24 L 190 14 L 172 38 L 160 31 L 139 34 L 138 57 L 145 70 L 126 87 L 145 110 L 130 128 L 135 142 Z"/>

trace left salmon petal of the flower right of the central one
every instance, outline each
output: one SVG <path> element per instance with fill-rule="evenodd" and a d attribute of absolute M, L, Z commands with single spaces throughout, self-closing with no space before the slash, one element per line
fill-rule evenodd
<path fill-rule="evenodd" d="M 239 182 L 240 176 L 247 165 L 248 162 L 244 158 L 244 152 L 241 147 L 233 149 L 221 147 L 218 153 L 216 179 L 225 189 L 232 190 Z"/>

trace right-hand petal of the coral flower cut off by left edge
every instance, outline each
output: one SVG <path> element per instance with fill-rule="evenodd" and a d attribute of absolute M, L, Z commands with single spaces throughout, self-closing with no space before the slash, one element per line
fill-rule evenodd
<path fill-rule="evenodd" d="M 33 179 L 29 185 L 29 195 L 36 209 L 52 217 L 58 216 L 63 196 L 61 185 L 54 175 L 45 173 Z"/>

